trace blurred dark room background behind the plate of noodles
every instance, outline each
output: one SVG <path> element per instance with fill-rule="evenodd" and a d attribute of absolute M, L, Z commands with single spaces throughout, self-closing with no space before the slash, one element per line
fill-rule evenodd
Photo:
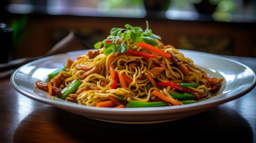
<path fill-rule="evenodd" d="M 45 55 L 71 31 L 93 48 L 112 27 L 145 29 L 146 20 L 164 44 L 256 57 L 256 0 L 1 0 L 0 7 L 8 60 Z"/>

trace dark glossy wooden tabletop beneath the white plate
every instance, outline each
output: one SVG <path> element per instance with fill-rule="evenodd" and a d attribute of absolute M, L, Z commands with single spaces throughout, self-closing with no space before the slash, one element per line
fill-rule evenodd
<path fill-rule="evenodd" d="M 256 72 L 256 58 L 231 57 Z M 183 119 L 129 125 L 81 117 L 17 92 L 0 79 L 1 143 L 256 143 L 256 88 L 236 100 Z M 242 142 L 241 142 L 242 141 Z"/>

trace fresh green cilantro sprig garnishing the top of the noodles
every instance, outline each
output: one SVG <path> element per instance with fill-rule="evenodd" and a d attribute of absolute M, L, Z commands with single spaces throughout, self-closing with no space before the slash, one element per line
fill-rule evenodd
<path fill-rule="evenodd" d="M 104 55 L 109 55 L 112 53 L 126 53 L 128 50 L 128 45 L 125 43 L 130 40 L 134 44 L 137 42 L 144 42 L 152 46 L 157 45 L 156 39 L 161 40 L 161 37 L 152 33 L 149 29 L 148 21 L 146 21 L 146 30 L 143 30 L 138 26 L 131 26 L 130 24 L 125 24 L 124 28 L 112 28 L 110 30 L 110 35 L 107 39 L 99 41 L 94 44 L 94 48 L 104 47 Z"/>

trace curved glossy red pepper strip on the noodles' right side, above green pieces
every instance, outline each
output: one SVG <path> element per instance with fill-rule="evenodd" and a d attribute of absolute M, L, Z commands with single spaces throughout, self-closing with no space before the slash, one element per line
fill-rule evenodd
<path fill-rule="evenodd" d="M 195 90 L 179 86 L 178 84 L 175 84 L 173 82 L 157 82 L 157 84 L 159 86 L 171 86 L 172 88 L 175 88 L 177 90 L 180 90 L 180 91 L 183 91 L 186 93 L 191 93 L 191 94 L 195 95 L 198 99 L 200 98 L 200 96 L 198 95 L 198 92 L 196 92 Z"/>

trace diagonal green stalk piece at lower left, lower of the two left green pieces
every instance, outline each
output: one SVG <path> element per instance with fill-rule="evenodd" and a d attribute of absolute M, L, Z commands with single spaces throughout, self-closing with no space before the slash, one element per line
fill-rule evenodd
<path fill-rule="evenodd" d="M 76 90 L 82 83 L 77 80 L 74 79 L 67 87 L 65 87 L 63 90 L 61 90 L 61 96 L 60 99 L 65 100 L 67 98 L 67 96 L 72 93 L 74 90 Z"/>

